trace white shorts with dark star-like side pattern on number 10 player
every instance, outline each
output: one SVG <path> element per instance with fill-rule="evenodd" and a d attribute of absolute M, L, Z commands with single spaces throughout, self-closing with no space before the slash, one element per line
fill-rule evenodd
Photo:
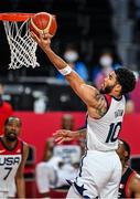
<path fill-rule="evenodd" d="M 84 198 L 118 198 L 121 163 L 116 151 L 87 150 L 73 187 Z"/>

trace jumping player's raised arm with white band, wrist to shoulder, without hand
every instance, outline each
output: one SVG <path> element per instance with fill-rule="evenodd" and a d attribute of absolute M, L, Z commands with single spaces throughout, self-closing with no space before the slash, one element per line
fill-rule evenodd
<path fill-rule="evenodd" d="M 63 59 L 61 59 L 57 54 L 55 54 L 55 52 L 52 51 L 51 48 L 44 49 L 44 52 L 46 53 L 52 64 L 63 75 L 65 75 L 65 78 L 69 82 L 71 87 L 80 97 L 80 100 L 87 106 L 94 106 L 94 104 L 97 103 L 96 98 L 94 97 L 97 93 L 97 90 L 87 85 L 84 80 L 74 70 L 71 69 L 71 66 L 67 66 L 67 63 Z"/>

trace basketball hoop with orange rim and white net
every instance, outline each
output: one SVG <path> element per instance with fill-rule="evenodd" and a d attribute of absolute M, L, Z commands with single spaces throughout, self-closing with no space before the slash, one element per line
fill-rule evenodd
<path fill-rule="evenodd" d="M 33 69 L 40 66 L 36 61 L 37 44 L 30 36 L 29 19 L 33 13 L 0 13 L 3 21 L 8 43 L 11 51 L 11 63 L 9 69 L 20 69 L 22 66 Z"/>

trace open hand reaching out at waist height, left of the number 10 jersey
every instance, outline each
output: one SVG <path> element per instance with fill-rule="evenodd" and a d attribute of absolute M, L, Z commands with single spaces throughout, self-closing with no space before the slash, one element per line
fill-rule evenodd
<path fill-rule="evenodd" d="M 66 129 L 60 129 L 53 134 L 53 137 L 55 138 L 55 142 L 57 144 L 62 144 L 63 142 L 73 140 L 75 138 L 75 136 L 76 136 L 75 132 L 66 130 Z"/>

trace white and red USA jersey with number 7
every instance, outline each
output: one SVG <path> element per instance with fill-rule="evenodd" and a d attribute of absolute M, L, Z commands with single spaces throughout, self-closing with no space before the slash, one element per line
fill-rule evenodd
<path fill-rule="evenodd" d="M 9 191 L 21 164 L 23 142 L 18 139 L 14 149 L 8 149 L 0 137 L 0 192 Z"/>

